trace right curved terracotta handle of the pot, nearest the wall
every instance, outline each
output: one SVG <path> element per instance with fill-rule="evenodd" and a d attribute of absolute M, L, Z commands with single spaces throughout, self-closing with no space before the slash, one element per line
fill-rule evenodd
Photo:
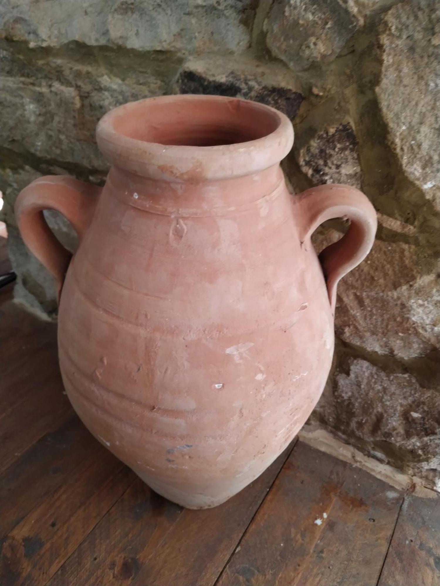
<path fill-rule="evenodd" d="M 319 255 L 331 311 L 336 305 L 336 288 L 339 280 L 357 267 L 370 252 L 377 229 L 377 214 L 368 197 L 348 185 L 320 185 L 299 195 L 300 240 L 308 246 L 310 237 L 319 224 L 333 218 L 350 220 L 346 234 L 330 244 Z"/>

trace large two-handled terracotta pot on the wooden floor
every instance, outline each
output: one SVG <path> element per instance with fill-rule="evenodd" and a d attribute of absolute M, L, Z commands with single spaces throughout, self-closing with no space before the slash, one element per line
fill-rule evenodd
<path fill-rule="evenodd" d="M 55 275 L 67 395 L 92 434 L 180 505 L 219 505 L 295 437 L 333 355 L 336 285 L 368 254 L 373 206 L 327 185 L 291 196 L 285 115 L 170 96 L 100 121 L 103 189 L 50 176 L 23 189 L 23 239 Z M 73 258 L 42 210 L 79 236 Z M 318 259 L 310 236 L 351 220 Z M 62 291 L 62 292 L 61 292 Z"/>

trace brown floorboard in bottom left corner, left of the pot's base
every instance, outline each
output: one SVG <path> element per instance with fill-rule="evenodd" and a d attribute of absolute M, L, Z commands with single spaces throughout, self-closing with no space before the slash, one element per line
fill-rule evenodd
<path fill-rule="evenodd" d="M 69 482 L 32 509 L 4 539 L 0 584 L 46 584 L 134 479 L 134 472 L 94 442 Z"/>

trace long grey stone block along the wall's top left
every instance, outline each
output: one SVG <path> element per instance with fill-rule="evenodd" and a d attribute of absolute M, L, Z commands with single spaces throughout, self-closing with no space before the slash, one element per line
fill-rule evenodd
<path fill-rule="evenodd" d="M 252 0 L 4 0 L 0 34 L 34 46 L 70 41 L 143 51 L 241 52 Z"/>

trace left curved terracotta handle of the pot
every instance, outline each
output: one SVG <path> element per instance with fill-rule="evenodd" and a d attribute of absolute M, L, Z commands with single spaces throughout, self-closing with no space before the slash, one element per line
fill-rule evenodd
<path fill-rule="evenodd" d="M 22 238 L 55 277 L 58 301 L 72 254 L 50 230 L 43 210 L 62 213 L 81 240 L 92 222 L 101 189 L 72 177 L 48 175 L 30 183 L 16 199 L 15 216 Z"/>

